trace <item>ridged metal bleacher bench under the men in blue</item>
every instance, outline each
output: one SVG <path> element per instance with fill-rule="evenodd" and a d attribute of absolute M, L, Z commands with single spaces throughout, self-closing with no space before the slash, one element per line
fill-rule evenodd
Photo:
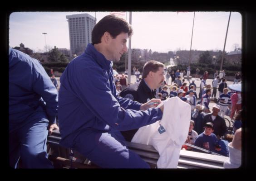
<path fill-rule="evenodd" d="M 48 136 L 47 152 L 49 160 L 54 163 L 55 168 L 70 168 L 70 151 L 59 145 L 60 139 L 59 130 L 54 130 L 52 135 Z M 131 142 L 126 142 L 126 144 L 131 151 L 137 153 L 151 168 L 157 168 L 159 153 L 153 146 Z M 224 156 L 181 150 L 177 168 L 223 168 L 223 162 L 227 159 L 228 157 Z M 72 160 L 73 168 L 99 168 L 79 152 L 74 152 Z"/>

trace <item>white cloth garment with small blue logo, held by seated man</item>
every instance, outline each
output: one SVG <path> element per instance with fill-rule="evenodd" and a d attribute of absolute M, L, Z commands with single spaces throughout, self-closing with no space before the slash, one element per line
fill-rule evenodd
<path fill-rule="evenodd" d="M 177 168 L 180 150 L 188 135 L 191 108 L 177 96 L 162 104 L 162 119 L 138 129 L 131 142 L 153 145 L 160 155 L 158 168 Z"/>

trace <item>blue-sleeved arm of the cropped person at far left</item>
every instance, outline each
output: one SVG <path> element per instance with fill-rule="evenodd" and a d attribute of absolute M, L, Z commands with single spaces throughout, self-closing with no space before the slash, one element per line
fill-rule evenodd
<path fill-rule="evenodd" d="M 49 119 L 49 125 L 54 124 L 56 123 L 58 113 L 58 90 L 37 60 L 34 63 L 33 71 L 32 89 L 39 94 L 46 103 L 46 114 Z"/>

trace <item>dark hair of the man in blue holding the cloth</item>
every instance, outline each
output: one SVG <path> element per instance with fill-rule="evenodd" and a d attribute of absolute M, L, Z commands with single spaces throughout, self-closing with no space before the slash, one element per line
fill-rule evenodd
<path fill-rule="evenodd" d="M 105 32 L 110 33 L 112 38 L 116 38 L 120 33 L 128 33 L 128 36 L 131 36 L 133 29 L 124 19 L 112 14 L 107 15 L 94 26 L 92 44 L 101 43 L 101 37 Z"/>

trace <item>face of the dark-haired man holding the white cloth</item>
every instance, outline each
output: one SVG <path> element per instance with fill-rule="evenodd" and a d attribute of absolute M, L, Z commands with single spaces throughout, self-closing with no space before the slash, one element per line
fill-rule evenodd
<path fill-rule="evenodd" d="M 113 62 L 118 62 L 122 57 L 123 53 L 127 52 L 127 39 L 128 33 L 120 33 L 114 39 L 110 35 L 110 40 L 107 47 L 110 60 L 112 60 Z"/>

